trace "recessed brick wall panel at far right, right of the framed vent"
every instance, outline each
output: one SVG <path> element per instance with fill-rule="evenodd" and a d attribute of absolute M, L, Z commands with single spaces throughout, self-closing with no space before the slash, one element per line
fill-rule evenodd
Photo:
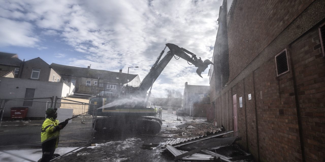
<path fill-rule="evenodd" d="M 325 61 L 318 28 L 292 43 L 289 52 L 298 92 L 306 161 L 322 161 L 325 152 Z"/>

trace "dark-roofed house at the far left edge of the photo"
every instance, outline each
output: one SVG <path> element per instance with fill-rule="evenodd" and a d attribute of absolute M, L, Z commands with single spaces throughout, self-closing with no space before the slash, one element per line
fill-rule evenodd
<path fill-rule="evenodd" d="M 15 77 L 18 77 L 21 63 L 22 61 L 17 54 L 0 52 L 0 70 L 13 71 Z"/>

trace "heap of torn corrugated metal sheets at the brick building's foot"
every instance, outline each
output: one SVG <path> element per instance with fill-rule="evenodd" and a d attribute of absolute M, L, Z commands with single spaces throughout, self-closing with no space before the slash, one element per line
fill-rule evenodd
<path fill-rule="evenodd" d="M 222 138 L 228 133 L 233 131 L 211 132 L 194 138 L 169 140 L 159 151 L 168 150 L 175 156 L 175 160 L 252 162 L 253 156 L 234 144 L 235 141 L 241 140 L 241 137 Z"/>

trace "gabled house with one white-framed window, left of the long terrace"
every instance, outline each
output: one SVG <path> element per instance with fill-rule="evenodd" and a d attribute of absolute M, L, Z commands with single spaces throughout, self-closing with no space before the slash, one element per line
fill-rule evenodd
<path fill-rule="evenodd" d="M 25 61 L 21 64 L 19 78 L 40 81 L 60 82 L 59 75 L 49 64 L 40 57 Z"/>

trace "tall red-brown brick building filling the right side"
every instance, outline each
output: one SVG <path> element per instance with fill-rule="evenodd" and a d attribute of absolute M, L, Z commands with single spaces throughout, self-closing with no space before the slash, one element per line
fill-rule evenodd
<path fill-rule="evenodd" d="M 324 161 L 325 1 L 224 0 L 210 71 L 215 120 L 255 161 Z"/>

